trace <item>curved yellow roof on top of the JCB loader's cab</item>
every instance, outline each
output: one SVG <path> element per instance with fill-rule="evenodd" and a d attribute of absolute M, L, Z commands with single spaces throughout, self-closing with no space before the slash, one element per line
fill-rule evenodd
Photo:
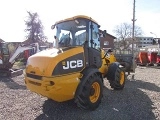
<path fill-rule="evenodd" d="M 77 18 L 83 18 L 83 19 L 88 19 L 88 20 L 91 20 L 92 22 L 98 24 L 94 19 L 92 19 L 91 17 L 88 17 L 88 16 L 85 16 L 85 15 L 77 15 L 77 16 L 73 16 L 73 17 L 70 17 L 70 18 L 66 18 L 64 20 L 60 20 L 60 21 L 57 21 L 55 23 L 56 24 L 59 24 L 59 23 L 62 23 L 62 22 L 66 22 L 66 21 L 70 21 L 70 20 L 75 20 Z"/>

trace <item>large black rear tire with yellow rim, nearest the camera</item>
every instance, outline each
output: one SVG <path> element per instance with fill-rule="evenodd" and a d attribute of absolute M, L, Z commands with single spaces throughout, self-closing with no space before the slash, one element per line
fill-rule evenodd
<path fill-rule="evenodd" d="M 97 74 L 93 74 L 81 87 L 82 92 L 75 98 L 77 106 L 82 109 L 95 110 L 102 99 L 102 78 Z"/>

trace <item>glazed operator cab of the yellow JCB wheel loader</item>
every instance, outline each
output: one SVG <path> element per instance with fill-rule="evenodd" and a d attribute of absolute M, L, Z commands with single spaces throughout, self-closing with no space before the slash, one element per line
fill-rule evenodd
<path fill-rule="evenodd" d="M 52 25 L 57 48 L 83 47 L 86 65 L 100 68 L 101 49 L 99 25 L 87 16 L 75 16 Z"/>

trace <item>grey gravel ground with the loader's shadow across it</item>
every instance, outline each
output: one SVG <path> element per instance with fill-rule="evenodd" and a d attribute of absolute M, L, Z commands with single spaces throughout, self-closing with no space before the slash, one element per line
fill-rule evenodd
<path fill-rule="evenodd" d="M 27 90 L 23 79 L 0 78 L 0 120 L 160 120 L 160 68 L 138 67 L 122 91 L 105 80 L 95 111 L 81 110 L 73 101 L 48 100 Z"/>

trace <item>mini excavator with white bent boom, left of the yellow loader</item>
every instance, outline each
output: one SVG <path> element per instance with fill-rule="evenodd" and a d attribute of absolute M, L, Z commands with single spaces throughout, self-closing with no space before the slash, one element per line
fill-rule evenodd
<path fill-rule="evenodd" d="M 9 43 L 0 43 L 0 76 L 17 76 L 23 74 L 22 69 L 13 69 L 13 65 L 19 56 L 26 50 L 32 50 L 35 54 L 39 52 L 39 44 L 33 43 L 30 45 L 19 45 L 14 54 L 10 56 Z"/>

